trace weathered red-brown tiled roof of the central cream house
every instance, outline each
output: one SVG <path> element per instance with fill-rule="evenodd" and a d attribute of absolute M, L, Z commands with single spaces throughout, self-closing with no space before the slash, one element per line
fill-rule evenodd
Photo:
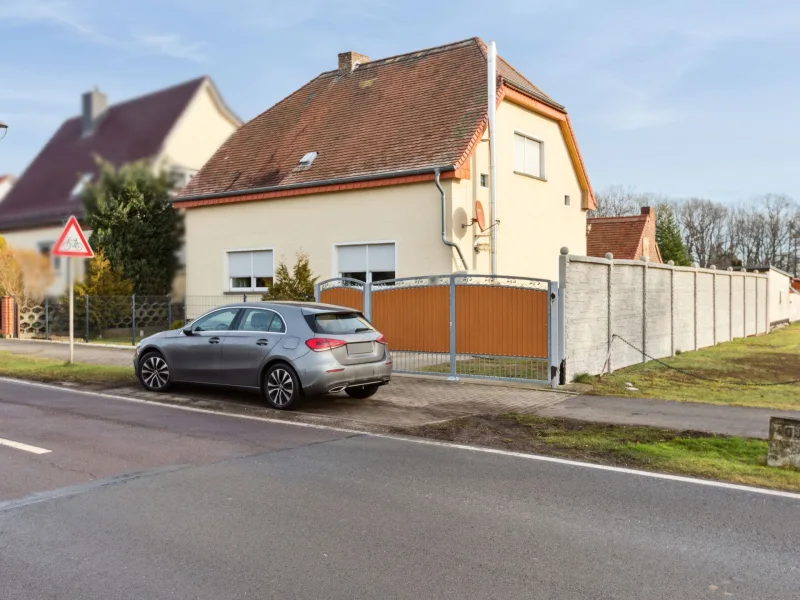
<path fill-rule="evenodd" d="M 497 67 L 498 103 L 507 85 L 513 88 L 508 96 L 524 96 L 534 110 L 562 123 L 593 205 L 564 108 L 502 58 Z M 487 49 L 478 38 L 326 71 L 231 136 L 182 190 L 177 205 L 287 195 L 283 190 L 299 195 L 312 187 L 335 191 L 340 183 L 351 188 L 376 179 L 401 183 L 407 179 L 398 177 L 421 172 L 432 178 L 434 168 L 453 176 L 486 127 L 487 91 Z M 312 152 L 311 166 L 299 168 Z"/>

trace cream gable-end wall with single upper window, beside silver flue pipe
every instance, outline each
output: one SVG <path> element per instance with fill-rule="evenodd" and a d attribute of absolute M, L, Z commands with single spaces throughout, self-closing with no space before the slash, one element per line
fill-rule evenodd
<path fill-rule="evenodd" d="M 544 142 L 544 181 L 514 172 L 515 132 Z M 486 150 L 482 172 L 488 173 Z M 504 100 L 497 110 L 496 154 L 498 273 L 555 281 L 562 247 L 586 254 L 586 211 L 561 129 L 555 121 Z M 479 178 L 479 173 L 472 176 Z M 488 217 L 488 200 L 484 206 Z"/>

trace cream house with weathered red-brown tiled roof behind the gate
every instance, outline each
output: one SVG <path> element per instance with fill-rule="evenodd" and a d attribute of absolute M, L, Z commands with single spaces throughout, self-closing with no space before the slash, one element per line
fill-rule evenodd
<path fill-rule="evenodd" d="M 473 224 L 476 200 L 494 221 L 487 68 L 477 38 L 345 52 L 247 123 L 176 198 L 187 294 L 264 291 L 299 251 L 323 278 L 490 273 L 490 232 Z M 585 252 L 594 207 L 566 111 L 498 58 L 496 129 L 497 273 L 557 279 L 561 247 Z"/>

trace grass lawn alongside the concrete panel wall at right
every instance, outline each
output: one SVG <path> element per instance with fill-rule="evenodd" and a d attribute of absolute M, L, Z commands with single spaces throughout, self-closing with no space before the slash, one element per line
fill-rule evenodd
<path fill-rule="evenodd" d="M 752 385 L 800 379 L 800 324 L 769 335 L 684 352 L 664 362 L 712 381 L 697 379 L 652 361 L 620 369 L 604 376 L 602 381 L 585 376 L 578 377 L 577 381 L 592 384 L 591 393 L 603 396 L 800 410 L 800 383 Z M 633 384 L 638 391 L 627 389 L 626 383 Z"/>

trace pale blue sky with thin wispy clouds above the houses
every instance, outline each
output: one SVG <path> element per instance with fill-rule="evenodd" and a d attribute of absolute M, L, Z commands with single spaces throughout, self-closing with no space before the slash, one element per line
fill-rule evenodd
<path fill-rule="evenodd" d="M 97 85 L 209 74 L 247 120 L 354 50 L 478 35 L 570 113 L 596 190 L 800 200 L 796 0 L 0 0 L 0 173 Z"/>

